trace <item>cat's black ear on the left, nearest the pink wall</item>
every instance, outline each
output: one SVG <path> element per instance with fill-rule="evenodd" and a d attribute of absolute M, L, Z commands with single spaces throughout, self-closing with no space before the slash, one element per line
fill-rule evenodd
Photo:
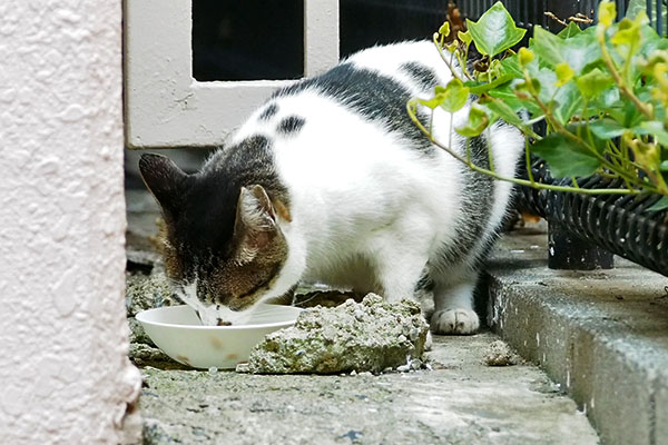
<path fill-rule="evenodd" d="M 188 175 L 168 157 L 155 154 L 141 155 L 139 171 L 160 207 L 164 210 L 174 210 L 178 190 Z"/>

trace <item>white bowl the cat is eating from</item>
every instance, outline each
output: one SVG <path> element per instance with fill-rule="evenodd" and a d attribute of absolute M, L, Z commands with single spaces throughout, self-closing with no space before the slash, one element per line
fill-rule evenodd
<path fill-rule="evenodd" d="M 189 306 L 143 310 L 135 316 L 150 339 L 165 354 L 194 368 L 234 368 L 246 362 L 253 346 L 265 335 L 292 326 L 302 309 L 261 305 L 247 324 L 203 326 Z"/>

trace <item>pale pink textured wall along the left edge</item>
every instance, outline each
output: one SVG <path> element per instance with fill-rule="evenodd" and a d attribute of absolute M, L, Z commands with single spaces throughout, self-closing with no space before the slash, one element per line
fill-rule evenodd
<path fill-rule="evenodd" d="M 2 444 L 138 439 L 121 86 L 120 0 L 0 2 Z"/>

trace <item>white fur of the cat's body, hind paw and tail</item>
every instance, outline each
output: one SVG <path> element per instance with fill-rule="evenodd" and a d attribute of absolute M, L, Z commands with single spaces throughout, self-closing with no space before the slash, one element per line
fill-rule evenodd
<path fill-rule="evenodd" d="M 350 58 L 355 66 L 379 71 L 429 97 L 401 72 L 404 62 L 418 61 L 438 73 L 446 85 L 451 73 L 431 42 L 376 47 Z M 477 273 L 473 255 L 455 270 L 439 270 L 439 249 L 455 236 L 462 209 L 462 166 L 443 150 L 426 157 L 406 147 L 406 139 L 389 134 L 377 122 L 351 112 L 315 91 L 277 99 L 278 113 L 259 121 L 258 110 L 239 129 L 233 144 L 252 135 L 273 141 L 278 174 L 288 188 L 292 222 L 279 220 L 288 243 L 288 258 L 272 291 L 283 295 L 298 280 L 352 286 L 358 290 L 383 289 L 389 300 L 413 298 L 413 289 L 428 261 L 435 283 L 438 333 L 470 334 L 478 328 L 471 291 Z M 468 118 L 468 107 L 452 119 L 454 127 Z M 298 135 L 276 135 L 276 122 L 301 116 L 306 125 Z M 451 116 L 434 115 L 434 134 L 448 144 Z M 493 126 L 488 130 L 495 168 L 514 175 L 523 148 L 517 129 Z M 461 139 L 452 137 L 453 146 Z M 508 206 L 511 185 L 497 182 L 491 221 L 484 239 L 499 225 Z"/>

